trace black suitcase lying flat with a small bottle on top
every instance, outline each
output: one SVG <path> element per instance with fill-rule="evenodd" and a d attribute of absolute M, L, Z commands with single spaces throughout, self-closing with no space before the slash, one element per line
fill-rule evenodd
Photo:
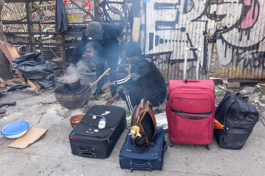
<path fill-rule="evenodd" d="M 101 117 L 92 119 L 92 115 L 104 114 L 106 125 L 99 129 Z M 82 157 L 105 159 L 111 155 L 112 149 L 126 127 L 126 112 L 124 108 L 112 105 L 92 106 L 81 121 L 69 134 L 69 141 L 73 155 Z M 98 129 L 98 132 L 94 130 Z"/>

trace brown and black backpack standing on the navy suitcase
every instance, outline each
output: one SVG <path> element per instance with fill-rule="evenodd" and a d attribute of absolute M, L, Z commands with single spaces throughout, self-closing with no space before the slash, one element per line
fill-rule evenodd
<path fill-rule="evenodd" d="M 133 139 L 134 146 L 143 147 L 153 144 L 156 135 L 156 118 L 154 117 L 152 103 L 145 98 L 133 108 L 131 127 L 134 125 L 139 126 L 139 133 L 142 136 Z"/>

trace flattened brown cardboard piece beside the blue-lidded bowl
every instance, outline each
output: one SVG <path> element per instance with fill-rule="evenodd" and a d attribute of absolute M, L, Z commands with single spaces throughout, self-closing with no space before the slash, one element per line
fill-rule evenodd
<path fill-rule="evenodd" d="M 25 149 L 27 146 L 39 139 L 46 130 L 48 129 L 32 127 L 23 136 L 17 138 L 14 142 L 9 144 L 8 147 Z"/>

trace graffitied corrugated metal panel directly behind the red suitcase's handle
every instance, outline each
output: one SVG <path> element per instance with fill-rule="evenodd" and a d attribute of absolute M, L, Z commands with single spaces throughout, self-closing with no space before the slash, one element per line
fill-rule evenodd
<path fill-rule="evenodd" d="M 206 53 L 203 32 L 213 33 L 216 6 L 216 1 L 208 0 L 142 1 L 141 45 L 145 54 L 154 56 L 154 63 L 166 81 L 183 78 L 185 47 L 202 48 L 199 79 L 209 78 L 212 44 Z M 197 54 L 189 51 L 187 79 L 195 79 Z"/>

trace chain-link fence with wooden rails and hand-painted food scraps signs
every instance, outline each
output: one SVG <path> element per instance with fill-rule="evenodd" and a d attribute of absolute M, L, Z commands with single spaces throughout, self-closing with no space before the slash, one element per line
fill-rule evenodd
<path fill-rule="evenodd" d="M 63 3 L 68 31 L 58 32 L 55 31 L 54 22 L 55 1 L 5 0 L 2 23 L 6 42 L 13 44 L 20 55 L 39 51 L 44 60 L 58 64 L 64 72 L 70 64 L 74 47 L 89 22 L 115 23 L 123 27 L 123 32 L 118 37 L 120 56 L 117 72 L 119 75 L 127 74 L 129 64 L 123 53 L 125 44 L 131 40 L 132 35 L 133 1 L 63 0 Z M 78 18 L 74 17 L 77 21 L 71 16 L 73 13 L 76 16 L 79 14 Z M 85 71 L 88 72 L 86 75 L 95 72 L 92 47 L 85 50 L 80 63 L 89 68 Z"/>

